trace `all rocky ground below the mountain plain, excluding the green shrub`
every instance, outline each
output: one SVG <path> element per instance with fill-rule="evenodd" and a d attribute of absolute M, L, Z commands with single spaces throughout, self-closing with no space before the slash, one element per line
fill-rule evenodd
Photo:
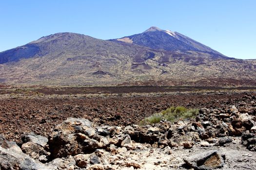
<path fill-rule="evenodd" d="M 256 167 L 254 91 L 26 97 L 0 100 L 0 170 Z M 201 109 L 196 119 L 137 125 L 173 105 Z"/>

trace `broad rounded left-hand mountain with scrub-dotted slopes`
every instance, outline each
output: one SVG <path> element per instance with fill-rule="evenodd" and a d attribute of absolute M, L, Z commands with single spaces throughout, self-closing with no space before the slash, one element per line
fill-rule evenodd
<path fill-rule="evenodd" d="M 137 66 L 132 63 L 143 63 L 149 55 L 156 53 L 159 52 L 138 45 L 83 34 L 58 33 L 1 52 L 0 71 L 3 74 L 0 79 L 42 84 L 80 84 L 106 79 L 100 82 L 105 84 L 113 79 L 123 79 L 130 67 L 136 72 Z"/>

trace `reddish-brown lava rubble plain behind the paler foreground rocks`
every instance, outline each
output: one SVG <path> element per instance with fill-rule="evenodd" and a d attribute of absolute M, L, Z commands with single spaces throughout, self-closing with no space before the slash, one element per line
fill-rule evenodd
<path fill-rule="evenodd" d="M 95 92 L 99 89 L 100 91 L 106 92 L 104 90 L 105 87 L 90 88 L 94 89 Z M 111 93 L 121 92 L 121 88 L 118 88 L 112 87 L 113 91 Z M 131 88 L 145 92 L 150 91 L 152 87 Z M 51 89 L 48 89 L 48 91 L 45 89 L 47 88 L 44 88 L 44 91 L 41 92 L 46 94 L 54 93 L 49 92 Z M 71 88 L 73 91 L 67 91 L 66 89 L 65 92 L 68 94 L 80 91 L 80 89 L 75 88 Z M 172 88 L 164 87 L 159 87 L 159 89 L 173 90 Z M 144 96 L 130 94 L 108 98 L 85 96 L 50 98 L 47 95 L 36 98 L 2 98 L 0 99 L 0 134 L 6 136 L 7 139 L 17 141 L 20 141 L 20 135 L 31 131 L 47 136 L 56 124 L 61 123 L 68 117 L 86 118 L 97 123 L 109 125 L 137 124 L 146 116 L 170 106 L 182 105 L 188 108 L 223 107 L 224 105 L 231 105 L 243 101 L 243 99 L 250 98 L 251 96 L 256 96 L 255 91 L 144 94 Z"/>

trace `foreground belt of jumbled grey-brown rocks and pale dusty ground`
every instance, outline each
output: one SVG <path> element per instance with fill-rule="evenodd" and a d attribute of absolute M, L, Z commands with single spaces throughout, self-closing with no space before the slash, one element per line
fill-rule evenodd
<path fill-rule="evenodd" d="M 47 138 L 23 135 L 19 146 L 0 136 L 0 170 L 253 170 L 255 100 L 145 126 L 69 118 Z"/>

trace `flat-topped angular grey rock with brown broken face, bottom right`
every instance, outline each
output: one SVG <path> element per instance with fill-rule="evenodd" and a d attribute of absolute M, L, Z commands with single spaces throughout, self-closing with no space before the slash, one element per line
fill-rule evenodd
<path fill-rule="evenodd" d="M 197 170 L 214 170 L 224 165 L 224 159 L 217 151 L 195 154 L 183 160 L 190 167 Z"/>

